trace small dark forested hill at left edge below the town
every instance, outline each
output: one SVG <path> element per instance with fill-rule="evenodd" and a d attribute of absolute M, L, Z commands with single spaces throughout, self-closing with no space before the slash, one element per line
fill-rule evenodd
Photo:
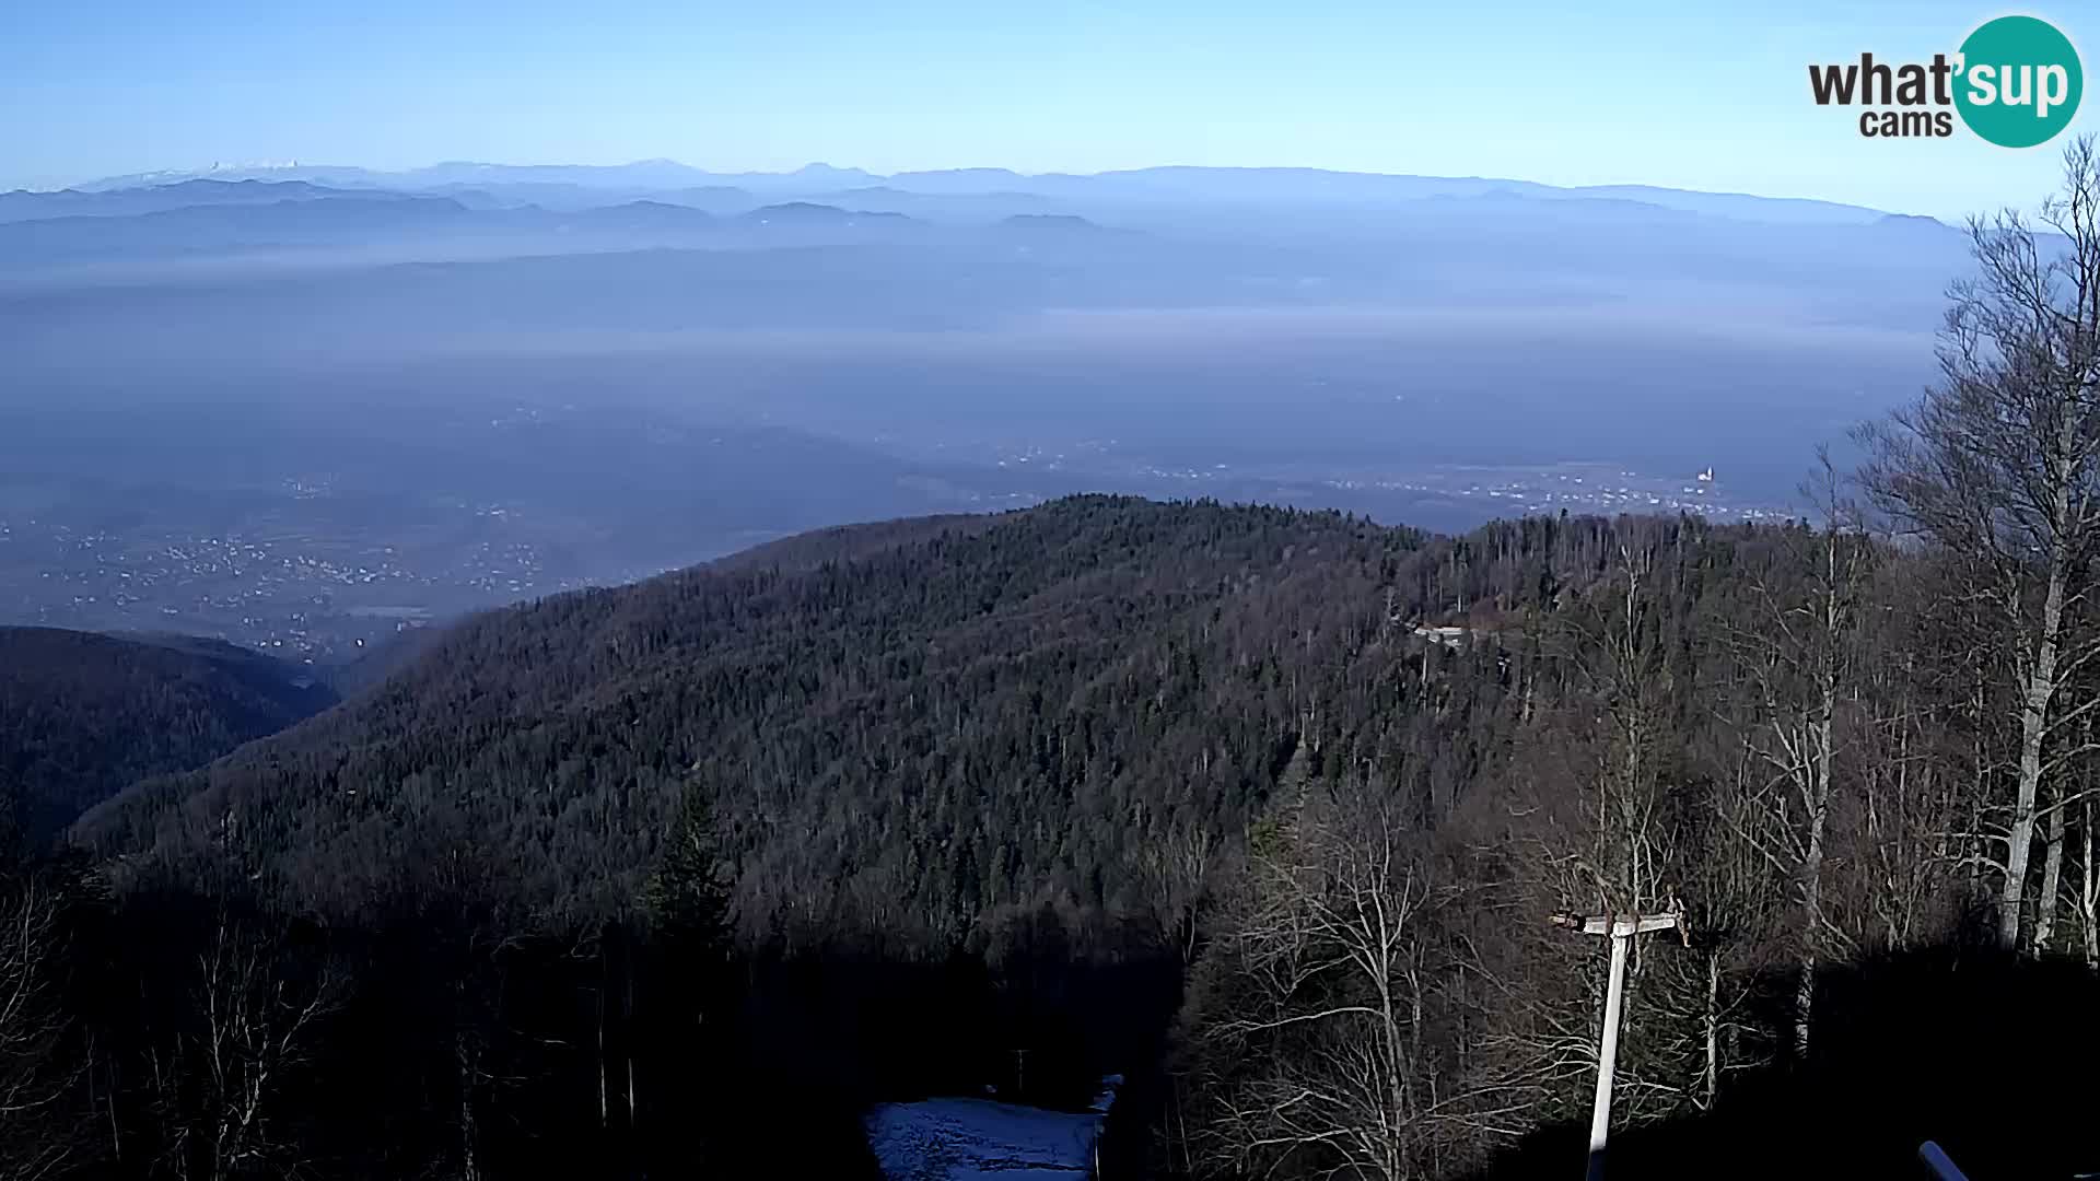
<path fill-rule="evenodd" d="M 334 693 L 262 654 L 189 637 L 0 628 L 0 799 L 42 841 L 124 786 L 275 733 Z"/>

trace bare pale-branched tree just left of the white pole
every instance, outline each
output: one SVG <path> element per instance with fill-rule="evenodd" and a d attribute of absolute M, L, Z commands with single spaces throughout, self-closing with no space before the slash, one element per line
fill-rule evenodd
<path fill-rule="evenodd" d="M 1344 786 L 1256 849 L 1208 954 L 1199 1170 L 1422 1177 L 1441 1145 L 1522 1124 L 1525 1103 L 1436 1061 L 1441 897 L 1399 813 Z"/>

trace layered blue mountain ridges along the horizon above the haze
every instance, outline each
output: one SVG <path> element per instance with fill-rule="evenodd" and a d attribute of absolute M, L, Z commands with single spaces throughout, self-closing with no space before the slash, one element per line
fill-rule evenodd
<path fill-rule="evenodd" d="M 0 193 L 0 273 L 29 282 L 40 273 L 86 273 L 82 267 L 139 273 L 141 265 L 166 261 L 313 258 L 315 250 L 391 263 L 722 246 L 1010 240 L 1031 250 L 1130 242 L 1111 229 L 1348 254 L 1369 242 L 1409 242 L 1413 261 L 1470 242 L 1468 263 L 1508 250 L 1684 258 L 1684 250 L 1705 252 L 1743 235 L 1787 240 L 1735 242 L 1724 252 L 1880 254 L 1886 246 L 1875 237 L 1922 248 L 1934 248 L 1934 235 L 1945 235 L 1949 248 L 1955 240 L 1932 219 L 1829 202 L 1317 168 L 1138 168 L 1092 177 L 956 168 L 876 177 L 830 164 L 706 172 L 668 160 L 613 168 L 437 164 L 410 172 L 286 164 Z M 1823 242 L 1831 235 L 1844 242 Z M 359 254 L 353 258 L 349 248 Z M 1317 273 L 1304 261 L 1275 256 L 1233 267 L 1241 275 Z"/>

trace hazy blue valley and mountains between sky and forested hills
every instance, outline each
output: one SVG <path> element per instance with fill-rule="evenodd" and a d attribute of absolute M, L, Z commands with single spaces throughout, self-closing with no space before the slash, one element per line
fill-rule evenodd
<path fill-rule="evenodd" d="M 0 620 L 340 658 L 1071 492 L 1464 527 L 1798 511 L 1964 237 L 1264 168 L 447 164 L 0 195 Z"/>

